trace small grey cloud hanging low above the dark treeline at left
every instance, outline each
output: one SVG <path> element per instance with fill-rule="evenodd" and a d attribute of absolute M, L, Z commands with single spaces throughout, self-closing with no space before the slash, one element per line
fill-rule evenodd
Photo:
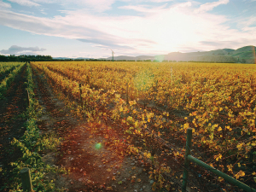
<path fill-rule="evenodd" d="M 36 55 L 40 51 L 44 51 L 46 49 L 41 48 L 39 49 L 38 47 L 20 47 L 17 45 L 12 45 L 9 49 L 2 49 L 0 50 L 1 54 L 4 55 Z"/>

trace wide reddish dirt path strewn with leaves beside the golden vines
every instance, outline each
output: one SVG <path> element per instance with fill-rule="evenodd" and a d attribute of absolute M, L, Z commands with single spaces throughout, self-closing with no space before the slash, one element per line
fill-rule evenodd
<path fill-rule="evenodd" d="M 137 156 L 122 156 L 105 145 L 104 134 L 90 134 L 86 119 L 73 117 L 44 79 L 44 73 L 32 68 L 37 84 L 36 99 L 44 108 L 38 127 L 44 132 L 55 132 L 65 138 L 57 153 L 44 154 L 44 162 L 51 166 L 70 169 L 68 176 L 49 174 L 58 188 L 68 191 L 152 191 L 153 180 L 148 179 L 148 168 Z M 104 129 L 102 125 L 102 130 Z M 121 143 L 120 143 L 121 144 Z"/>

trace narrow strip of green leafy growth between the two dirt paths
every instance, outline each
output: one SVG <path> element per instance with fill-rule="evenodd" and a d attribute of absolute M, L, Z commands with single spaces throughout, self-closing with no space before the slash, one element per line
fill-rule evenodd
<path fill-rule="evenodd" d="M 23 191 L 20 171 L 28 167 L 30 168 L 32 186 L 35 191 L 63 191 L 64 189 L 56 189 L 53 180 L 46 179 L 46 175 L 49 172 L 57 172 L 66 174 L 64 168 L 58 168 L 55 166 L 46 165 L 42 160 L 41 154 L 45 150 L 56 150 L 56 146 L 61 142 L 61 138 L 56 138 L 54 135 L 44 134 L 41 135 L 37 125 L 36 109 L 38 108 L 38 101 L 34 98 L 33 89 L 35 84 L 32 80 L 32 69 L 30 65 L 26 67 L 27 75 L 27 90 L 29 92 L 30 105 L 26 108 L 26 131 L 20 138 L 14 138 L 12 145 L 14 148 L 19 148 L 22 156 L 15 162 L 11 162 L 12 166 L 11 177 L 7 183 L 4 183 L 2 189 L 9 189 L 9 191 Z M 7 174 L 6 170 L 2 170 L 3 174 Z M 9 174 L 10 175 L 10 174 Z"/>

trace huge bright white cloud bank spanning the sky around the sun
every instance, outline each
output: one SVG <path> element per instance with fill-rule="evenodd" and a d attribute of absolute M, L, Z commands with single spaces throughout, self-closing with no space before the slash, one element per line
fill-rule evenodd
<path fill-rule="evenodd" d="M 40 3 L 41 0 L 37 0 Z M 57 0 L 53 0 L 57 2 Z M 65 0 L 62 3 L 70 3 Z M 98 0 L 101 6 L 111 4 L 114 0 Z M 129 4 L 129 0 L 127 0 Z M 144 1 L 145 2 L 145 1 Z M 255 42 L 256 38 L 251 26 L 244 25 L 247 31 L 230 28 L 230 18 L 225 15 L 207 13 L 208 10 L 220 4 L 228 3 L 220 0 L 205 3 L 198 8 L 199 3 L 191 1 L 173 3 L 172 5 L 148 6 L 125 5 L 117 9 L 133 9 L 142 15 L 107 15 L 92 13 L 81 9 L 63 10 L 65 16 L 53 18 L 18 14 L 13 11 L 2 11 L 0 25 L 15 29 L 61 38 L 77 39 L 86 44 L 92 44 L 102 49 L 113 49 L 120 55 L 166 54 L 172 51 L 209 50 L 222 48 L 237 48 L 247 42 Z M 76 4 L 95 3 L 75 0 Z M 104 4 L 105 3 L 105 4 Z M 127 3 L 126 3 L 127 4 Z M 89 8 L 90 8 L 89 6 Z M 240 20 L 239 22 L 246 21 Z M 253 19 L 247 24 L 253 23 Z"/>

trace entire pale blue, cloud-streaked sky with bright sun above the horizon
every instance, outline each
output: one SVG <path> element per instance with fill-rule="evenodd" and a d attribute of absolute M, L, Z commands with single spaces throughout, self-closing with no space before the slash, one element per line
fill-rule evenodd
<path fill-rule="evenodd" d="M 0 0 L 0 55 L 104 58 L 256 45 L 256 0 Z"/>

